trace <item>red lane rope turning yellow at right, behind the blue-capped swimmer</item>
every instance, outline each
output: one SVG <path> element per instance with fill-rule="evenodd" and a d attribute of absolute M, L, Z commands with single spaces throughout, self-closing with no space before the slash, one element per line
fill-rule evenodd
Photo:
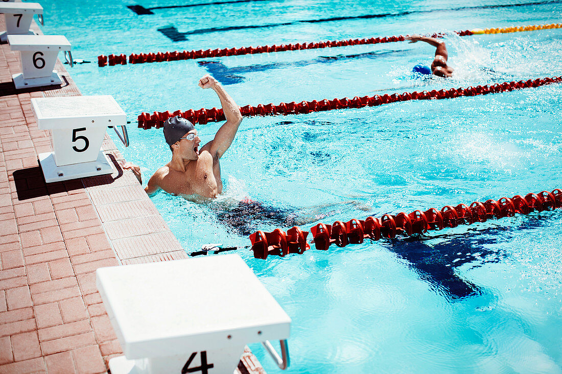
<path fill-rule="evenodd" d="M 474 34 L 500 34 L 500 33 L 515 33 L 518 31 L 533 31 L 533 30 L 546 30 L 546 29 L 560 29 L 562 24 L 545 24 L 545 25 L 532 25 L 532 26 L 511 26 L 507 28 L 492 28 L 492 29 L 474 29 L 465 31 L 453 31 L 461 37 Z M 432 38 L 441 38 L 445 34 L 437 33 L 431 35 Z M 379 44 L 391 42 L 404 42 L 408 35 L 398 35 L 383 38 L 370 38 L 370 39 L 349 39 L 349 40 L 331 40 L 328 42 L 318 43 L 297 43 L 297 44 L 281 44 L 281 45 L 259 45 L 257 47 L 242 47 L 242 48 L 223 48 L 223 49 L 206 49 L 203 51 L 174 51 L 174 52 L 151 52 L 151 53 L 131 53 L 128 57 L 129 63 L 149 63 L 149 62 L 164 62 L 164 61 L 179 61 L 191 60 L 194 58 L 210 58 L 210 57 L 224 57 L 224 56 L 241 56 L 243 54 L 255 53 L 271 53 L 271 52 L 284 52 L 284 51 L 297 51 L 301 49 L 317 49 L 317 48 L 332 48 L 332 47 L 345 47 L 347 45 L 359 44 Z M 124 53 L 110 54 L 109 56 L 98 56 L 98 66 L 103 67 L 106 65 L 126 65 L 127 56 Z"/>

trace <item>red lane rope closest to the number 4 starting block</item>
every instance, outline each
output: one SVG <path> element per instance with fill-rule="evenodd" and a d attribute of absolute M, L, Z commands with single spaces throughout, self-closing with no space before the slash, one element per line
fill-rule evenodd
<path fill-rule="evenodd" d="M 513 217 L 516 213 L 526 215 L 532 211 L 554 210 L 562 207 L 562 190 L 529 193 L 522 197 L 502 197 L 499 200 L 475 201 L 470 206 L 459 204 L 456 207 L 445 206 L 438 211 L 429 208 L 422 212 L 416 210 L 409 214 L 386 214 L 381 218 L 367 217 L 365 220 L 353 218 L 348 222 L 336 221 L 332 225 L 318 224 L 310 228 L 314 245 L 318 250 L 328 250 L 330 245 L 346 247 L 348 244 L 360 244 L 365 239 L 395 238 L 396 235 L 424 234 L 428 230 L 442 230 L 445 227 L 470 225 L 474 222 L 486 222 L 491 218 Z M 250 235 L 255 258 L 265 259 L 268 255 L 287 256 L 289 253 L 302 254 L 310 249 L 306 238 L 309 232 L 294 226 L 287 233 L 281 229 L 273 232 L 257 231 Z"/>

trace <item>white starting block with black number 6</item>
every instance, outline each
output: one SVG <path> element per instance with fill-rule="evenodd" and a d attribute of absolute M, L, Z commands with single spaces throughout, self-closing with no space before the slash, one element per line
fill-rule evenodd
<path fill-rule="evenodd" d="M 65 51 L 72 66 L 70 42 L 64 35 L 8 35 L 12 51 L 20 51 L 21 73 L 12 75 L 16 89 L 62 84 L 55 67 L 57 54 Z"/>

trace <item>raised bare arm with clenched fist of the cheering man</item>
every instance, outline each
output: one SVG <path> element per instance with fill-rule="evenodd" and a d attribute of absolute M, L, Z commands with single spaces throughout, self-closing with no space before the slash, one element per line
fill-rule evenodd
<path fill-rule="evenodd" d="M 215 139 L 205 144 L 202 148 L 209 147 L 209 152 L 213 157 L 221 158 L 234 140 L 240 122 L 242 122 L 242 113 L 232 97 L 226 93 L 223 86 L 209 74 L 199 80 L 199 86 L 201 88 L 212 88 L 219 96 L 220 103 L 223 106 L 226 122 L 220 127 L 219 131 L 216 132 Z"/>

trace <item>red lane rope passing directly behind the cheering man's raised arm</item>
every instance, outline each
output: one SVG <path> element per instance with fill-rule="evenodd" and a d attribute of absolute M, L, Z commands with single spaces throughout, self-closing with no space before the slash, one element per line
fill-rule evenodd
<path fill-rule="evenodd" d="M 343 99 L 323 99 L 320 101 L 303 101 L 300 103 L 280 103 L 279 105 L 269 104 L 259 104 L 256 107 L 250 105 L 239 107 L 240 112 L 243 117 L 253 117 L 253 116 L 277 116 L 277 115 L 291 115 L 291 114 L 307 114 L 311 112 L 322 112 L 331 111 L 344 108 L 362 108 L 362 107 L 374 107 L 382 104 L 409 101 L 409 100 L 430 100 L 430 99 L 450 99 L 460 96 L 475 96 L 475 95 L 486 95 L 490 93 L 500 93 L 509 92 L 516 89 L 539 87 L 551 83 L 562 82 L 562 76 L 546 77 L 542 79 L 535 80 L 520 80 L 518 82 L 504 82 L 501 84 L 492 84 L 485 86 L 476 86 L 468 88 L 451 88 L 449 90 L 432 90 L 422 91 L 422 92 L 405 92 L 403 94 L 392 94 L 392 95 L 374 95 L 374 96 L 364 96 L 364 97 L 354 97 L 353 99 L 348 99 L 347 97 Z M 138 127 L 142 129 L 150 129 L 151 127 L 156 127 L 159 129 L 164 126 L 164 121 L 167 118 L 180 116 L 193 124 L 207 124 L 208 122 L 224 121 L 224 113 L 222 109 L 211 108 L 200 110 L 190 109 L 188 111 L 182 112 L 177 110 L 173 113 L 170 111 L 166 112 L 154 112 L 152 115 L 143 112 L 138 116 Z"/>

